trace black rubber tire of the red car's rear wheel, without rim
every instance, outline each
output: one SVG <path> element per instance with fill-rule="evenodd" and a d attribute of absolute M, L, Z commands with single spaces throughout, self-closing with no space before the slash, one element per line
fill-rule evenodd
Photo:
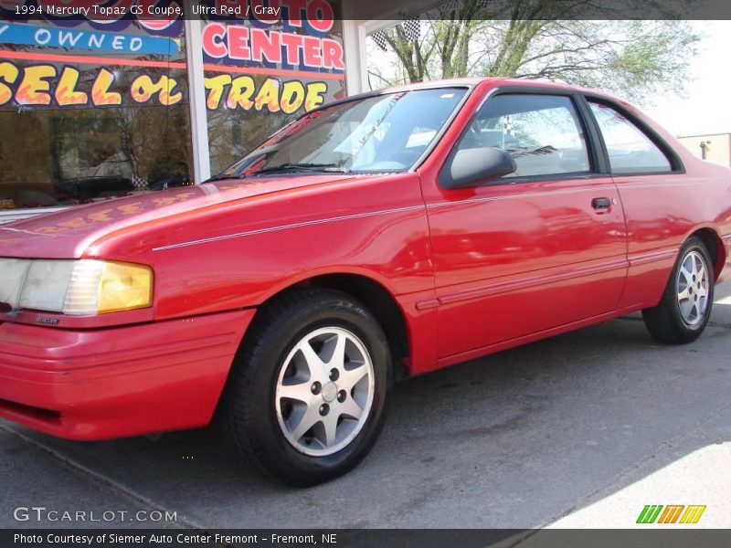
<path fill-rule="evenodd" d="M 707 297 L 705 311 L 702 314 L 697 313 L 693 322 L 683 319 L 683 312 L 678 300 L 678 279 L 679 273 L 683 266 L 683 262 L 691 254 L 694 257 L 702 258 L 707 276 Z M 694 283 L 701 283 L 701 280 L 694 280 Z M 714 303 L 714 264 L 711 255 L 705 247 L 704 241 L 700 237 L 689 237 L 683 244 L 678 258 L 675 261 L 673 272 L 668 279 L 667 286 L 662 293 L 662 300 L 656 307 L 645 309 L 642 311 L 642 318 L 645 321 L 647 330 L 652 336 L 660 342 L 670 342 L 674 344 L 685 344 L 693 342 L 705 330 L 705 325 L 711 316 L 711 310 Z M 697 286 L 690 287 L 693 291 Z M 693 297 L 693 295 L 691 295 Z M 697 300 L 697 294 L 695 295 Z"/>

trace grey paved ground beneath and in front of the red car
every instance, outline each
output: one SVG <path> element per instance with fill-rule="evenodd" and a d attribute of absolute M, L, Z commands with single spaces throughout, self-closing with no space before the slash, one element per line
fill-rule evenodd
<path fill-rule="evenodd" d="M 630 527 L 645 504 L 705 504 L 699 525 L 731 527 L 729 296 L 688 346 L 630 317 L 398 385 L 371 455 L 308 490 L 261 479 L 210 430 L 78 443 L 0 422 L 0 525 L 84 525 L 13 517 L 43 506 L 200 528 Z M 152 524 L 127 515 L 112 523 Z"/>

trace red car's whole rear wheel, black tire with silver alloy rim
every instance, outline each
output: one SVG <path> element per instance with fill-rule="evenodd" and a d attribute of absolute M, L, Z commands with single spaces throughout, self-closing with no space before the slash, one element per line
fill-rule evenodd
<path fill-rule="evenodd" d="M 678 256 L 658 306 L 642 311 L 648 331 L 661 342 L 693 342 L 704 331 L 714 303 L 714 269 L 699 237 Z"/>

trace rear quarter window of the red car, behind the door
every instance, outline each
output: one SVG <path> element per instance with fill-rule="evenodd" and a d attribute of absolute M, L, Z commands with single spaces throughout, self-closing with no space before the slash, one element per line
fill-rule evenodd
<path fill-rule="evenodd" d="M 648 174 L 673 171 L 673 164 L 632 121 L 611 107 L 589 102 L 609 153 L 613 174 Z"/>

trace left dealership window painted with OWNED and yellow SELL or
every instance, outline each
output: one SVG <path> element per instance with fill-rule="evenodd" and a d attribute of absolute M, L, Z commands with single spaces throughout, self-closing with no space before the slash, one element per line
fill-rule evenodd
<path fill-rule="evenodd" d="M 191 183 L 183 21 L 0 23 L 0 208 Z"/>

